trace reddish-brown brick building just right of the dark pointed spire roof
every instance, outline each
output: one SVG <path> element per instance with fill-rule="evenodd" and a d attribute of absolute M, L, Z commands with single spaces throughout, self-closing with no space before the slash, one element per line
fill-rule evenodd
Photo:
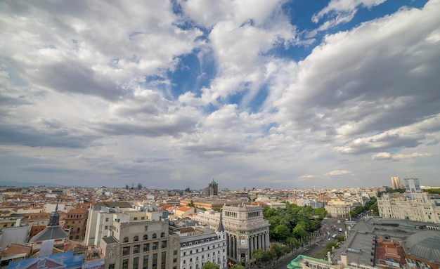
<path fill-rule="evenodd" d="M 86 233 L 87 209 L 72 209 L 67 212 L 65 218 L 65 228 L 69 230 L 69 239 L 73 241 L 84 241 Z"/>

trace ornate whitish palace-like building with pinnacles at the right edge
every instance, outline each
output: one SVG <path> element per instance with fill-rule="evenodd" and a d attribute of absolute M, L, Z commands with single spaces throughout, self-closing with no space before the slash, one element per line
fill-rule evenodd
<path fill-rule="evenodd" d="M 384 193 L 377 198 L 380 216 L 440 223 L 440 196 L 422 193 Z"/>

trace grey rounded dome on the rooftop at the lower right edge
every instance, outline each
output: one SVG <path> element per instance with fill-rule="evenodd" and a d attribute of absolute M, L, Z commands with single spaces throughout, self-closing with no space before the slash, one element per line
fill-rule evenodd
<path fill-rule="evenodd" d="M 440 232 L 429 230 L 410 235 L 405 240 L 406 253 L 425 261 L 440 263 Z"/>

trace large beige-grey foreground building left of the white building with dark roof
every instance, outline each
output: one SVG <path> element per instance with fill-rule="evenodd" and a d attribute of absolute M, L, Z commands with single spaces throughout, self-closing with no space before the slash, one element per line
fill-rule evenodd
<path fill-rule="evenodd" d="M 165 221 L 115 221 L 111 235 L 100 240 L 105 269 L 178 269 L 179 235 Z"/>

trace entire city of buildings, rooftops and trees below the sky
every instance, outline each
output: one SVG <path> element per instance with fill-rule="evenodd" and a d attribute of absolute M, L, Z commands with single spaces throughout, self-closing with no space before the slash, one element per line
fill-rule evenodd
<path fill-rule="evenodd" d="M 392 177 L 376 188 L 332 190 L 228 190 L 214 179 L 200 190 L 4 186 L 0 263 L 439 268 L 440 187 L 421 183 Z"/>

